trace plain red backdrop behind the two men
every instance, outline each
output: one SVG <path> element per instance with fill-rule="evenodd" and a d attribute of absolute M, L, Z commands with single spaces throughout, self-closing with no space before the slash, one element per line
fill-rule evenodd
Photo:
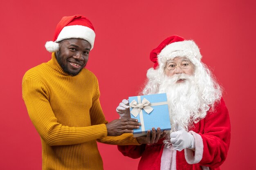
<path fill-rule="evenodd" d="M 96 31 L 87 68 L 99 79 L 106 119 L 136 95 L 153 66 L 150 51 L 169 35 L 193 39 L 224 87 L 231 119 L 231 145 L 222 170 L 256 169 L 254 0 L 8 0 L 0 5 L 0 169 L 40 170 L 40 137 L 21 96 L 31 67 L 47 62 L 44 44 L 62 16 L 82 14 Z M 135 170 L 138 159 L 117 146 L 99 144 L 105 170 Z"/>

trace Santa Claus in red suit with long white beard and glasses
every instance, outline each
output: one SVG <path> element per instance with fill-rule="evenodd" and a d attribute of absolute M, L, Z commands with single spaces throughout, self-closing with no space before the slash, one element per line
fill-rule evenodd
<path fill-rule="evenodd" d="M 118 146 L 125 156 L 141 157 L 138 170 L 219 170 L 225 161 L 229 114 L 222 90 L 201 58 L 193 40 L 177 35 L 151 51 L 155 64 L 148 70 L 142 94 L 167 94 L 172 129 L 161 134 L 163 139 L 153 134 L 151 144 Z M 121 118 L 129 117 L 128 108 L 124 99 L 117 107 Z"/>

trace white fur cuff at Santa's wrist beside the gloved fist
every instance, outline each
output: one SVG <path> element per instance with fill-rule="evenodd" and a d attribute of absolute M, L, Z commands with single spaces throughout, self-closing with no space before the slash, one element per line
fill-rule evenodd
<path fill-rule="evenodd" d="M 199 163 L 202 160 L 203 157 L 203 151 L 204 151 L 204 144 L 203 144 L 203 139 L 202 137 L 194 132 L 194 131 L 189 131 L 191 135 L 193 135 L 195 139 L 195 156 L 193 155 L 193 150 L 186 148 L 185 151 L 185 159 L 186 162 L 189 164 L 195 164 Z"/>

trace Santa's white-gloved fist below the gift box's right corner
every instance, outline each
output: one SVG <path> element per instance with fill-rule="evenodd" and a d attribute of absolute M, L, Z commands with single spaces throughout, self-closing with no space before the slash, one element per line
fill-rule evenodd
<path fill-rule="evenodd" d="M 191 135 L 189 132 L 186 132 L 184 128 L 179 127 L 176 132 L 171 132 L 170 137 L 170 141 L 173 144 L 175 150 L 182 151 L 185 148 L 195 148 L 195 139 L 193 135 Z"/>

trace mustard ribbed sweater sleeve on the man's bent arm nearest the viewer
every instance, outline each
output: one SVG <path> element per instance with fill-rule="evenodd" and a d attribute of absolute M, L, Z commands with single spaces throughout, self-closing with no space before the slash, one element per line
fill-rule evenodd
<path fill-rule="evenodd" d="M 49 103 L 49 91 L 38 80 L 23 78 L 22 98 L 40 137 L 50 146 L 80 144 L 107 135 L 105 124 L 69 127 L 58 123 Z"/>

